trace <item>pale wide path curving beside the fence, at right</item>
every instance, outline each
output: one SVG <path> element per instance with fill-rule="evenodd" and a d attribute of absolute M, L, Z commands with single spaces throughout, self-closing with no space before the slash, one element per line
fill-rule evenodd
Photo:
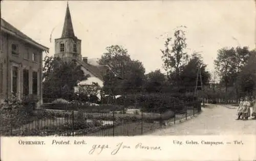
<path fill-rule="evenodd" d="M 202 113 L 196 118 L 156 130 L 149 135 L 255 135 L 256 120 L 235 120 L 236 113 L 237 106 L 211 104 L 202 108 Z"/>

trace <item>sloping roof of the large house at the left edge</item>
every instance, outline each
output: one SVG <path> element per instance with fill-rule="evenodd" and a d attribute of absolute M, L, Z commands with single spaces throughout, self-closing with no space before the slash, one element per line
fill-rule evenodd
<path fill-rule="evenodd" d="M 33 44 L 41 49 L 47 50 L 49 52 L 49 48 L 46 46 L 43 46 L 39 43 L 37 43 L 36 41 L 34 41 L 33 39 L 31 39 L 30 37 L 28 37 L 27 35 L 25 35 L 24 33 L 22 33 L 21 31 L 19 31 L 17 28 L 15 28 L 13 25 L 11 25 L 10 23 L 8 23 L 6 20 L 4 20 L 3 18 L 1 18 L 1 30 L 6 30 L 9 31 L 11 33 L 13 33 L 13 35 L 15 35 L 16 37 L 19 37 L 21 39 L 27 40 L 28 43 Z"/>

